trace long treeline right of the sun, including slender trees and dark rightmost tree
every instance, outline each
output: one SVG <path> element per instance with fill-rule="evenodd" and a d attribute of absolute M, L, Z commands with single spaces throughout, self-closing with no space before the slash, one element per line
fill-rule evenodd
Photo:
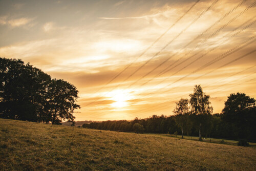
<path fill-rule="evenodd" d="M 99 130 L 159 133 L 212 138 L 256 140 L 255 99 L 244 93 L 231 94 L 220 114 L 211 114 L 209 96 L 196 86 L 190 99 L 176 102 L 175 115 L 153 115 L 147 119 L 132 121 L 102 121 L 83 124 L 83 127 Z M 136 125 L 136 126 L 135 126 Z M 141 125 L 139 127 L 138 125 Z M 200 136 L 201 136 L 200 135 Z"/>

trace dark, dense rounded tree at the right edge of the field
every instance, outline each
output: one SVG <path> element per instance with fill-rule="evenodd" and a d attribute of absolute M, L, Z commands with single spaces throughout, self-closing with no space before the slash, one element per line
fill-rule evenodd
<path fill-rule="evenodd" d="M 253 138 L 256 129 L 255 109 L 254 98 L 244 93 L 230 94 L 225 101 L 222 118 L 232 125 L 237 138 Z"/>

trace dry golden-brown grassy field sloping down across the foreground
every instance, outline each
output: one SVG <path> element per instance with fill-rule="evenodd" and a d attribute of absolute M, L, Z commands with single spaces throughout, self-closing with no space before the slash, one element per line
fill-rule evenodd
<path fill-rule="evenodd" d="M 256 148 L 0 119 L 1 170 L 256 170 Z"/>

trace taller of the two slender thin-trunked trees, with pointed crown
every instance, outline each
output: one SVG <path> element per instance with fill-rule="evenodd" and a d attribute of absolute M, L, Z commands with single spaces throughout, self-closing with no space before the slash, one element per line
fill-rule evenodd
<path fill-rule="evenodd" d="M 210 116 L 212 114 L 212 106 L 210 105 L 209 95 L 206 95 L 200 85 L 196 85 L 193 94 L 190 96 L 191 111 L 195 113 L 196 122 L 199 124 L 199 140 L 201 140 L 201 125 L 209 127 Z"/>

